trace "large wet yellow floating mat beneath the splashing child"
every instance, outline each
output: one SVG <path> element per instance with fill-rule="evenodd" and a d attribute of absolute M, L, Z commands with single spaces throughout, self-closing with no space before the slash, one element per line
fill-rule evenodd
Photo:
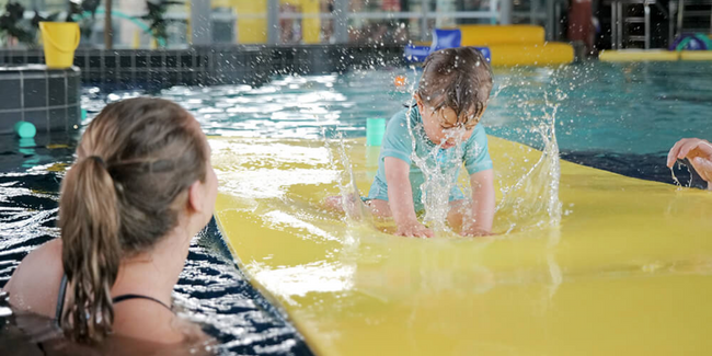
<path fill-rule="evenodd" d="M 220 181 L 216 217 L 234 259 L 318 355 L 712 349 L 708 192 L 561 161 L 556 227 L 531 223 L 547 221 L 540 216 L 495 238 L 400 238 L 320 205 L 351 176 L 368 191 L 378 148 L 364 140 L 347 140 L 343 151 L 317 140 L 210 145 Z M 548 198 L 537 196 L 536 180 L 516 184 L 547 176 L 535 166 L 541 152 L 495 137 L 490 151 L 497 191 L 531 194 L 521 209 Z M 516 220 L 499 213 L 495 230 Z"/>

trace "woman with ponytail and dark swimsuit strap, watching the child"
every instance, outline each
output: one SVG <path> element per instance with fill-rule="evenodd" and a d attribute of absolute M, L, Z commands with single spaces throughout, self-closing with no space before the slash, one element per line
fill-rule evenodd
<path fill-rule="evenodd" d="M 60 239 L 31 252 L 4 290 L 65 335 L 172 344 L 185 340 L 171 292 L 192 238 L 213 216 L 217 177 L 196 119 L 152 97 L 107 105 L 62 180 Z"/>

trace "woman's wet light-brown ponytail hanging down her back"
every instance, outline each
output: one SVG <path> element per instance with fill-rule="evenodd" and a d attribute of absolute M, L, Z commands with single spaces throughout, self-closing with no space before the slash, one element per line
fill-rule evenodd
<path fill-rule="evenodd" d="M 117 200 L 114 181 L 100 157 L 80 159 L 67 172 L 59 202 L 68 280 L 61 325 L 73 341 L 100 342 L 112 331 L 111 288 L 122 256 Z"/>

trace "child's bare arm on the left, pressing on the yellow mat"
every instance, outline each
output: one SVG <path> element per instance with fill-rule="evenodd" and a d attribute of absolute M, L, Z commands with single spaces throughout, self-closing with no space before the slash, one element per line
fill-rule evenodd
<path fill-rule="evenodd" d="M 386 183 L 388 184 L 388 202 L 395 220 L 397 236 L 432 238 L 433 231 L 417 221 L 411 188 L 411 166 L 403 160 L 386 157 Z"/>

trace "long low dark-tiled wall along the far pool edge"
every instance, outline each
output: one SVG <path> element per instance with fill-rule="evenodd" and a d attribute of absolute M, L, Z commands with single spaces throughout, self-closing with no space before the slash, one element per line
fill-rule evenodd
<path fill-rule="evenodd" d="M 211 46 L 190 49 L 78 49 L 85 85 L 260 85 L 275 73 L 326 73 L 402 65 L 402 46 Z M 43 64 L 42 50 L 0 49 L 2 64 Z"/>

